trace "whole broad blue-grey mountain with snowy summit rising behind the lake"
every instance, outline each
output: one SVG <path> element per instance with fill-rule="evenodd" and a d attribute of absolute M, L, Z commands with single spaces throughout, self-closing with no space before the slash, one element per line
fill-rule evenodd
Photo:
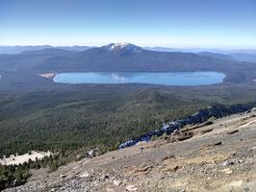
<path fill-rule="evenodd" d="M 156 52 L 129 43 L 111 43 L 64 57 L 42 60 L 37 68 L 56 71 L 226 71 L 235 66 L 236 61 L 220 56 Z M 243 68 L 240 62 L 236 66 Z"/>

